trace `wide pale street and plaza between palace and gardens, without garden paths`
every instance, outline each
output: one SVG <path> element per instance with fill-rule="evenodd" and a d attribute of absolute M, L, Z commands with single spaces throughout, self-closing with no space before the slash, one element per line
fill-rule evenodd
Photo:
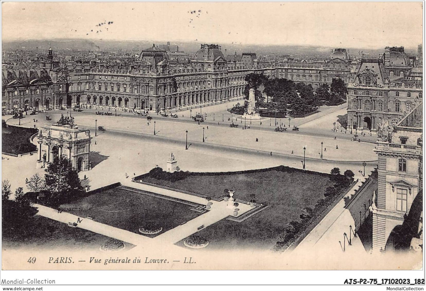
<path fill-rule="evenodd" d="M 207 109 L 223 112 L 226 111 L 226 104 L 206 107 Z M 184 171 L 240 171 L 283 164 L 301 169 L 304 146 L 307 170 L 328 173 L 337 166 L 342 172 L 351 169 L 356 177 L 360 177 L 359 171 L 363 170 L 362 162 L 371 161 L 366 166 L 366 174 L 368 174 L 377 164 L 377 156 L 372 151 L 375 144 L 353 142 L 350 134 L 334 133 L 333 120 L 335 121 L 338 115 L 342 115 L 345 109 L 335 108 L 335 111 L 326 109 L 331 113 L 319 119 L 308 116 L 310 120 L 300 126 L 300 131 L 288 132 L 274 132 L 269 126 L 263 125 L 252 125 L 250 129 L 245 130 L 240 127 L 230 128 L 230 121 L 220 121 L 217 125 L 216 121 L 207 120 L 199 125 L 190 118 L 158 118 L 156 114 L 152 115 L 153 120 L 148 125 L 146 117 L 101 116 L 89 114 L 86 110 L 72 112 L 77 125 L 90 128 L 93 137 L 91 150 L 96 152 L 91 157 L 93 169 L 81 172 L 80 177 L 83 178 L 86 175 L 90 179 L 91 189 L 96 189 L 125 180 L 126 173 L 131 178 L 133 174 L 143 174 L 156 165 L 165 168 L 166 160 L 172 152 L 178 160 L 178 166 Z M 26 116 L 21 119 L 21 125 L 34 127 L 34 125 L 53 124 L 60 118 L 61 113 L 67 114 L 65 111 L 50 111 L 31 117 Z M 49 115 L 52 120 L 46 121 L 46 115 Z M 33 122 L 34 117 L 38 119 L 38 122 Z M 104 126 L 107 130 L 97 131 L 96 137 L 95 119 L 97 119 L 97 126 Z M 17 125 L 18 122 L 18 119 L 8 120 L 8 124 Z M 203 127 L 204 143 L 202 142 Z M 188 131 L 187 142 L 185 131 Z M 323 160 L 320 156 L 321 142 L 323 142 Z M 186 144 L 188 150 L 185 150 Z M 33 171 L 36 172 L 36 155 L 21 158 L 8 156 L 7 158 L 9 158 L 6 162 L 8 166 L 2 169 L 3 179 L 11 181 L 12 189 L 18 185 L 25 185 L 25 178 L 29 178 L 32 171 L 25 171 L 25 177 L 15 173 L 21 172 L 23 168 L 20 162 L 24 162 L 25 167 L 34 169 Z M 98 163 L 98 160 L 102 161 Z M 42 170 L 39 169 L 37 172 Z M 14 180 L 19 180 L 16 186 Z"/>

